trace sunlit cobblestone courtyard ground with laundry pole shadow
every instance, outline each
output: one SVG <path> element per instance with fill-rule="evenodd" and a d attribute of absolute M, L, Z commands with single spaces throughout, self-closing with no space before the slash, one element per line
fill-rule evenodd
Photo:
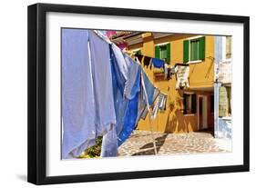
<path fill-rule="evenodd" d="M 153 133 L 158 154 L 176 153 L 222 153 L 218 140 L 209 132 L 192 132 L 189 134 Z M 154 154 L 150 132 L 134 131 L 128 140 L 118 149 L 119 156 Z"/>

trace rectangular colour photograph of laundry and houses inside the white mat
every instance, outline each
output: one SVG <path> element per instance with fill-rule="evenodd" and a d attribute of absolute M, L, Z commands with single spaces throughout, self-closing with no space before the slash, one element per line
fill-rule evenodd
<path fill-rule="evenodd" d="M 232 152 L 231 35 L 60 37 L 61 160 Z"/>

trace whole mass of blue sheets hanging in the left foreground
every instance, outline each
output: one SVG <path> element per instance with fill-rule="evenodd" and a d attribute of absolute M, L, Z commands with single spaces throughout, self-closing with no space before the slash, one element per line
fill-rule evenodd
<path fill-rule="evenodd" d="M 62 32 L 62 158 L 78 157 L 99 135 L 101 156 L 117 156 L 160 91 L 141 64 L 97 31 Z"/>

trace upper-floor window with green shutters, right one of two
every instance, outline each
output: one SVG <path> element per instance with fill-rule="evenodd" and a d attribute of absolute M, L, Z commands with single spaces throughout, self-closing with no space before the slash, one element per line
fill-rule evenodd
<path fill-rule="evenodd" d="M 204 60 L 205 58 L 205 36 L 183 41 L 183 62 Z"/>

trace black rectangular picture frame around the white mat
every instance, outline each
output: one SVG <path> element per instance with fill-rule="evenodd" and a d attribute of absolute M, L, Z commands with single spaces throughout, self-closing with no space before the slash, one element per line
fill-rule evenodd
<path fill-rule="evenodd" d="M 243 164 L 172 170 L 125 173 L 97 173 L 67 176 L 46 176 L 46 13 L 76 13 L 91 15 L 121 15 L 177 20 L 199 20 L 243 24 Z M 94 181 L 151 178 L 205 173 L 248 172 L 250 170 L 250 18 L 237 15 L 210 15 L 165 12 L 81 5 L 36 4 L 28 6 L 28 137 L 27 181 L 35 184 L 81 183 Z"/>

